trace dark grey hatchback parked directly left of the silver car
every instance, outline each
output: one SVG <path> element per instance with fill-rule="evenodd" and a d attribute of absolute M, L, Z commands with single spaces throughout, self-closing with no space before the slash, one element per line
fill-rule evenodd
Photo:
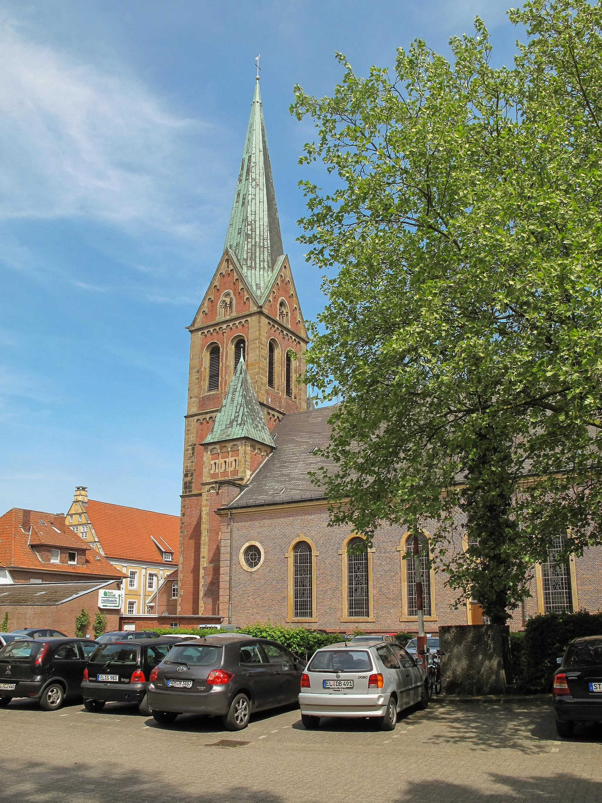
<path fill-rule="evenodd" d="M 239 731 L 253 711 L 297 702 L 303 666 L 265 638 L 206 636 L 173 646 L 153 669 L 148 705 L 161 724 L 178 714 L 209 714 Z"/>

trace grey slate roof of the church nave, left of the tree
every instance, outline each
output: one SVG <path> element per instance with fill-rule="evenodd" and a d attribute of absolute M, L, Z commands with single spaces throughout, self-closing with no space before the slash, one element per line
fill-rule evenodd
<path fill-rule="evenodd" d="M 228 507 L 235 510 L 323 499 L 323 489 L 311 482 L 307 472 L 317 471 L 320 466 L 334 466 L 332 461 L 313 454 L 316 447 L 324 446 L 330 438 L 328 418 L 333 410 L 333 407 L 319 407 L 285 415 L 272 431 L 275 452 L 264 460 L 242 493 Z"/>

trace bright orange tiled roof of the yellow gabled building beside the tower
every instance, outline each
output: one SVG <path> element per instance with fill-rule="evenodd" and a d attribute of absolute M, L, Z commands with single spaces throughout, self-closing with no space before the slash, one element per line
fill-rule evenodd
<path fill-rule="evenodd" d="M 166 566 L 178 561 L 180 517 L 88 499 L 84 509 L 106 556 L 112 560 L 151 560 Z M 172 552 L 173 561 L 164 561 Z"/>

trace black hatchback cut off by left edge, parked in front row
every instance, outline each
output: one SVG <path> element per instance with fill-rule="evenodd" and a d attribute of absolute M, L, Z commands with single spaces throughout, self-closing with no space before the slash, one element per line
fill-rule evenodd
<path fill-rule="evenodd" d="M 65 699 L 81 696 L 83 670 L 96 642 L 86 638 L 26 638 L 0 650 L 0 706 L 14 697 L 38 699 L 56 711 Z"/>

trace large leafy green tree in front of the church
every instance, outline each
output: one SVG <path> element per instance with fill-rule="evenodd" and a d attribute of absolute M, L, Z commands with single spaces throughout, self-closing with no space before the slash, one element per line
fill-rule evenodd
<path fill-rule="evenodd" d="M 361 79 L 338 55 L 334 96 L 296 87 L 291 107 L 318 128 L 301 161 L 338 177 L 303 182 L 301 220 L 308 259 L 335 268 L 307 352 L 339 402 L 336 467 L 315 476 L 331 524 L 428 528 L 458 604 L 494 622 L 559 532 L 567 552 L 602 540 L 602 7 L 510 19 L 512 69 L 476 18 L 453 64 L 418 40 Z"/>

